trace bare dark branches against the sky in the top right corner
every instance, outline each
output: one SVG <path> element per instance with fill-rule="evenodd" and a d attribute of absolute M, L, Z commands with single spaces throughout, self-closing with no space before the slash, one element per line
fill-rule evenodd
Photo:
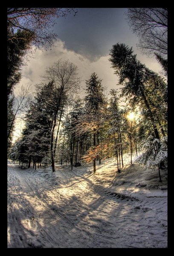
<path fill-rule="evenodd" d="M 166 8 L 128 8 L 128 23 L 139 37 L 137 45 L 147 55 L 167 55 L 168 11 Z"/>

